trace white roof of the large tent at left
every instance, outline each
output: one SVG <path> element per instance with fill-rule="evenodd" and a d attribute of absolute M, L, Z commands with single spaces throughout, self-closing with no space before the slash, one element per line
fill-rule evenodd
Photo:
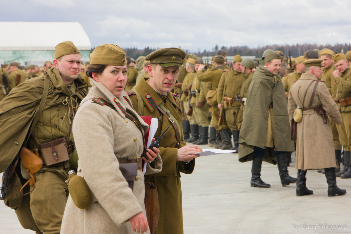
<path fill-rule="evenodd" d="M 0 22 L 0 51 L 53 51 L 62 41 L 90 50 L 88 35 L 78 22 Z"/>

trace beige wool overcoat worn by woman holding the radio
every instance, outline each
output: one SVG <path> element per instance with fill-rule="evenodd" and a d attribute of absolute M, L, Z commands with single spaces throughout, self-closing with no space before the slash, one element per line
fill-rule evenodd
<path fill-rule="evenodd" d="M 144 131 L 148 125 L 128 103 L 125 91 L 116 98 L 102 83 L 90 81 L 93 87 L 75 115 L 73 133 L 77 136 L 74 140 L 79 156 L 77 174 L 84 176 L 92 193 L 92 203 L 87 209 L 79 209 L 69 196 L 61 234 L 134 233 L 129 219 L 140 212 L 146 217 L 144 174 L 138 170 L 132 191 L 119 170 L 117 158 L 140 157 L 143 135 L 123 111 L 139 119 Z M 90 100 L 94 97 L 103 98 L 114 108 L 94 103 Z M 117 101 L 122 108 L 116 105 Z M 147 173 L 161 171 L 160 155 L 155 160 L 157 168 L 147 163 Z"/>

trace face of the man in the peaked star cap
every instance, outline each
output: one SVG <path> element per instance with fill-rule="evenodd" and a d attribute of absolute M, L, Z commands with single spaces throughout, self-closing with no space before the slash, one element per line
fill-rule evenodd
<path fill-rule="evenodd" d="M 149 85 L 161 94 L 171 92 L 176 84 L 180 66 L 161 67 L 160 65 L 147 67 L 150 75 Z"/>

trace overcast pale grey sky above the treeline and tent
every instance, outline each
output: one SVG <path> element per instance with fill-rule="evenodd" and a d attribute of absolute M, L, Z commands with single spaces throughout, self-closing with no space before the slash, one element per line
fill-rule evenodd
<path fill-rule="evenodd" d="M 254 48 L 272 44 L 351 43 L 351 1 L 347 0 L 0 0 L 0 3 L 0 21 L 80 22 L 92 47 L 103 43 L 140 49 L 181 46 L 202 52 L 212 51 L 216 44 Z M 25 35 L 18 34 L 25 40 Z"/>

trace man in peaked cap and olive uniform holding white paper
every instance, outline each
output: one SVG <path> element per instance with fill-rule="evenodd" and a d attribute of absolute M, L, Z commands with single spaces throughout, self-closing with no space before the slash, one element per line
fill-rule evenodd
<path fill-rule="evenodd" d="M 145 60 L 150 61 L 147 67 L 150 79 L 141 79 L 135 89 L 128 92 L 140 115 L 158 118 L 155 136 L 170 126 L 159 143 L 163 169 L 160 173 L 145 176 L 145 181 L 152 182 L 158 191 L 161 215 L 157 234 L 183 233 L 180 172 L 192 173 L 195 154 L 201 152 L 196 145 L 186 145 L 179 96 L 171 92 L 185 56 L 186 53 L 179 48 L 157 49 L 147 55 Z"/>

